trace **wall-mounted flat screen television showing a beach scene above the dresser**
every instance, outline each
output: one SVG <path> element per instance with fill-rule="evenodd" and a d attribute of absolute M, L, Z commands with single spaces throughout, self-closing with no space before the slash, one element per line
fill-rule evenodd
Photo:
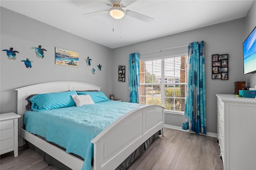
<path fill-rule="evenodd" d="M 243 43 L 244 74 L 256 73 L 256 27 Z"/>

